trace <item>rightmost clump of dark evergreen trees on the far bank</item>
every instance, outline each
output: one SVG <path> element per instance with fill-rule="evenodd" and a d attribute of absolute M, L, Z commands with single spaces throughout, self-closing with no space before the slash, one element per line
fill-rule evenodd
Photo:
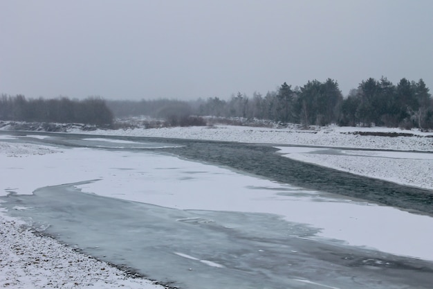
<path fill-rule="evenodd" d="M 394 85 L 384 77 L 369 78 L 342 103 L 340 123 L 432 129 L 433 103 L 429 91 L 422 79 L 414 82 L 402 78 Z"/>

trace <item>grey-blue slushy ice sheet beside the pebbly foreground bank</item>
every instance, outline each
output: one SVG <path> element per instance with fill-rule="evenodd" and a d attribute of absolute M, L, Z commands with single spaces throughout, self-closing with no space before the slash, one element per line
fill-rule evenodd
<path fill-rule="evenodd" d="M 430 263 L 315 240 L 316 229 L 272 214 L 169 209 L 73 185 L 2 199 L 47 234 L 180 288 L 430 288 L 432 281 Z"/>

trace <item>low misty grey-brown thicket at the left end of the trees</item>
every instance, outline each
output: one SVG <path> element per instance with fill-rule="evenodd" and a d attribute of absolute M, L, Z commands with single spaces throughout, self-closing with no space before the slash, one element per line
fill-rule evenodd
<path fill-rule="evenodd" d="M 86 123 L 110 128 L 113 125 L 113 112 L 102 98 L 26 99 L 22 95 L 6 96 L 3 94 L 0 98 L 0 119 L 46 123 Z"/>

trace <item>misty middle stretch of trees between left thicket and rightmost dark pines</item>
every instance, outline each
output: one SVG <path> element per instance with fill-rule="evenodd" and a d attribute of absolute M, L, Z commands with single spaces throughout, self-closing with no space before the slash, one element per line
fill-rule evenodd
<path fill-rule="evenodd" d="M 301 99 L 298 96 L 302 91 Z M 249 98 L 239 92 L 230 100 L 217 97 L 190 101 L 108 100 L 107 105 L 118 117 L 146 115 L 174 119 L 189 115 L 223 116 L 326 125 L 338 121 L 338 109 L 342 100 L 337 82 L 329 79 L 324 83 L 313 80 L 304 87 L 295 89 L 284 82 L 278 91 L 270 91 L 264 97 L 255 93 Z"/>

